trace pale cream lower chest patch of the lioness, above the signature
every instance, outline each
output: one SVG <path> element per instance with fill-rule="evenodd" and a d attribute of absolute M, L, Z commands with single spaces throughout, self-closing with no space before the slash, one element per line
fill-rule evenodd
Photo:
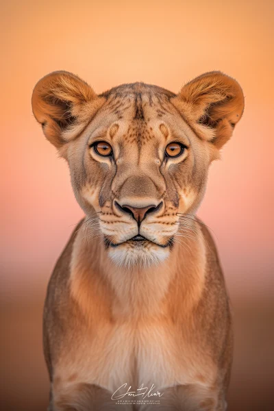
<path fill-rule="evenodd" d="M 172 326 L 104 325 L 82 341 L 77 354 L 71 356 L 69 370 L 77 375 L 77 382 L 97 384 L 112 393 L 123 384 L 161 388 L 191 384 L 197 372 L 203 373 L 198 364 L 193 369 L 190 355 Z M 69 377 L 65 368 L 62 375 Z"/>

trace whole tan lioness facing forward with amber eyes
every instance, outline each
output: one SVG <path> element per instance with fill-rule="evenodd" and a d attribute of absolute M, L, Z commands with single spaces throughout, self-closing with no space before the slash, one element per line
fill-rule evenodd
<path fill-rule="evenodd" d="M 195 213 L 240 86 L 214 71 L 177 95 L 143 83 L 96 95 L 58 71 L 32 105 L 86 214 L 47 291 L 49 410 L 225 410 L 231 314 Z"/>

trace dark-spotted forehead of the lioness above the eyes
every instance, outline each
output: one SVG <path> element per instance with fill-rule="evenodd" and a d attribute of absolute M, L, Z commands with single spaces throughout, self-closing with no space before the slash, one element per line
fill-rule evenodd
<path fill-rule="evenodd" d="M 106 101 L 90 124 L 90 139 L 153 145 L 169 138 L 188 143 L 190 127 L 177 112 L 173 92 L 143 83 L 124 84 L 103 93 Z M 164 137 L 164 138 L 163 138 Z"/>

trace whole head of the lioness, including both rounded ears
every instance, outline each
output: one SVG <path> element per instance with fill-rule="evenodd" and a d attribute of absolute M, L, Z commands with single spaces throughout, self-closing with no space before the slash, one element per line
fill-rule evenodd
<path fill-rule="evenodd" d="M 194 82 L 177 96 L 141 83 L 97 96 L 61 72 L 34 89 L 34 115 L 69 163 L 88 235 L 116 264 L 169 256 L 181 217 L 195 214 L 210 162 L 240 119 L 242 91 L 234 80 L 208 73 Z"/>

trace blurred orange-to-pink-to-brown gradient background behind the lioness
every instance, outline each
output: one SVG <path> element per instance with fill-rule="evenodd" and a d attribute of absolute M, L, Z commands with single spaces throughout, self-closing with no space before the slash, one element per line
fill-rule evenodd
<path fill-rule="evenodd" d="M 46 409 L 42 305 L 83 215 L 31 109 L 38 79 L 63 69 L 97 92 L 136 81 L 177 92 L 212 70 L 242 85 L 244 116 L 198 215 L 215 233 L 234 306 L 229 410 L 273 410 L 273 1 L 1 3 L 1 409 Z"/>

